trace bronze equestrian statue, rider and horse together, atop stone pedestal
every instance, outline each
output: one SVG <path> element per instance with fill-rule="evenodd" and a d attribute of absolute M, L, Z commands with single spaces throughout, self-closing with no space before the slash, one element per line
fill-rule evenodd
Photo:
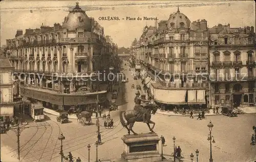
<path fill-rule="evenodd" d="M 154 132 L 153 129 L 155 127 L 155 122 L 151 121 L 151 114 L 155 114 L 158 106 L 156 104 L 150 103 L 150 100 L 145 100 L 140 98 L 140 92 L 137 91 L 136 97 L 134 98 L 135 106 L 134 110 L 127 110 L 120 112 L 120 122 L 123 127 L 128 130 L 128 134 L 130 131 L 133 131 L 133 126 L 135 122 L 143 122 L 146 123 L 148 128 L 150 128 L 151 132 Z M 147 103 L 145 106 L 141 105 L 141 101 Z M 150 127 L 150 124 L 153 124 L 153 127 Z"/>

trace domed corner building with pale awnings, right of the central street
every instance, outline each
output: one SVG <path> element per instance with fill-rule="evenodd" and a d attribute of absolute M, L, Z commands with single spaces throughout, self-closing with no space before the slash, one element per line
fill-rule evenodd
<path fill-rule="evenodd" d="M 209 53 L 205 19 L 191 22 L 178 8 L 168 20 L 143 29 L 136 52 L 142 71 L 147 72 L 147 91 L 155 101 L 166 108 L 207 106 Z"/>

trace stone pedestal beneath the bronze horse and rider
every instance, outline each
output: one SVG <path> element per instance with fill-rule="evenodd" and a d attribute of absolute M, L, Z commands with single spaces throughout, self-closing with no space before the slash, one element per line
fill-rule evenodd
<path fill-rule="evenodd" d="M 131 162 L 161 161 L 158 143 L 161 138 L 156 133 L 124 135 L 121 159 Z"/>

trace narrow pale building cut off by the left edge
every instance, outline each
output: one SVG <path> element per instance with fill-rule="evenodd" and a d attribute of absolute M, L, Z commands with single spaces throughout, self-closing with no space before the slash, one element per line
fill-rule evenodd
<path fill-rule="evenodd" d="M 12 96 L 12 71 L 14 67 L 8 58 L 0 57 L 0 117 L 1 120 L 12 120 L 14 115 L 14 102 Z"/>

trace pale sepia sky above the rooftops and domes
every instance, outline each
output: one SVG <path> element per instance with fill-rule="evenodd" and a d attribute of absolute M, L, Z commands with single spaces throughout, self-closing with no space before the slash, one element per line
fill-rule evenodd
<path fill-rule="evenodd" d="M 42 23 L 62 24 L 75 2 L 104 27 L 105 35 L 110 35 L 119 48 L 130 47 L 145 25 L 155 25 L 154 20 L 143 20 L 144 16 L 167 20 L 178 5 L 191 22 L 206 19 L 209 28 L 229 23 L 231 28 L 254 26 L 255 30 L 254 1 L 2 1 L 1 46 L 6 44 L 6 39 L 15 37 L 17 29 L 25 33 L 26 29 L 39 28 Z M 99 20 L 102 16 L 118 16 L 121 20 Z M 142 17 L 142 20 L 125 20 L 126 16 Z"/>

